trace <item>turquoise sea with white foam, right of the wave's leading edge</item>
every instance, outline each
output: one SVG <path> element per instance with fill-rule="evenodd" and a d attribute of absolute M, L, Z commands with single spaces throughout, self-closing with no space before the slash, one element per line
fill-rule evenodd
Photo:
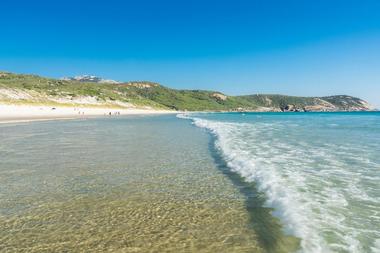
<path fill-rule="evenodd" d="M 380 251 L 380 113 L 184 114 L 302 252 Z"/>

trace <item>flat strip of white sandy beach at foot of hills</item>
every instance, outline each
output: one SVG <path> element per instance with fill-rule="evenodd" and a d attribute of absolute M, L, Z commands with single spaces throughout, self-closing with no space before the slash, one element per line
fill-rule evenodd
<path fill-rule="evenodd" d="M 75 119 L 94 116 L 175 113 L 169 110 L 0 104 L 0 123 Z"/>

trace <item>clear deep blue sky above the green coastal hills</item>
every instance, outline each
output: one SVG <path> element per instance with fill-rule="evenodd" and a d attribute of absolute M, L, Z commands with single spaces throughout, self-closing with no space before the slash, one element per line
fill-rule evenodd
<path fill-rule="evenodd" d="M 379 0 L 2 0 L 0 69 L 380 107 Z"/>

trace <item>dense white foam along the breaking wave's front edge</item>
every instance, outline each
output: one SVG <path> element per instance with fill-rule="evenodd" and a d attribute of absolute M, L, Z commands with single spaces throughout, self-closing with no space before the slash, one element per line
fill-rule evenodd
<path fill-rule="evenodd" d="M 300 251 L 363 252 L 363 247 L 357 240 L 358 232 L 345 223 L 346 217 L 334 213 L 334 209 L 346 208 L 348 205 L 342 192 L 335 188 L 325 187 L 319 193 L 309 193 L 310 182 L 304 177 L 317 176 L 318 180 L 323 180 L 325 176 L 317 173 L 309 175 L 309 171 L 302 168 L 309 166 L 311 164 L 309 160 L 312 159 L 308 160 L 307 157 L 302 158 L 303 160 L 293 159 L 292 157 L 296 153 L 293 153 L 293 150 L 291 150 L 292 152 L 289 151 L 286 142 L 276 143 L 279 148 L 288 150 L 288 154 L 284 152 L 285 155 L 276 155 L 276 152 L 273 151 L 276 149 L 271 147 L 273 145 L 271 141 L 267 141 L 267 144 L 269 143 L 268 145 L 265 144 L 267 147 L 263 143 L 254 143 L 256 146 L 254 148 L 257 151 L 261 149 L 260 145 L 263 145 L 263 150 L 267 148 L 268 153 L 273 152 L 273 158 L 271 156 L 270 158 L 263 158 L 260 156 L 260 152 L 250 153 L 250 149 L 253 148 L 252 143 L 245 141 L 245 136 L 242 133 L 248 132 L 253 136 L 250 136 L 251 138 L 255 138 L 255 135 L 259 137 L 258 135 L 263 133 L 262 129 L 256 129 L 256 126 L 251 123 L 206 120 L 191 114 L 181 114 L 178 117 L 192 120 L 195 126 L 207 129 L 215 136 L 215 147 L 222 154 L 228 167 L 245 180 L 255 182 L 258 190 L 265 193 L 267 197 L 266 206 L 274 208 L 273 215 L 282 221 L 285 232 L 302 239 Z M 265 131 L 275 131 L 276 127 L 268 124 L 265 126 Z M 318 155 L 329 156 L 329 154 L 325 154 L 326 150 L 323 149 L 315 152 L 319 152 Z M 287 161 L 288 159 L 289 161 Z M 300 163 L 300 161 L 304 163 Z M 292 166 L 288 165 L 288 167 L 283 168 L 286 172 L 281 171 L 282 168 L 278 164 L 288 162 Z M 328 162 L 331 168 L 335 168 L 334 166 L 338 168 L 340 165 L 333 156 L 329 157 Z M 289 169 L 289 167 L 300 170 Z M 341 173 L 339 170 L 337 172 Z M 326 182 L 322 183 L 326 184 Z M 318 211 L 315 212 L 315 210 Z M 326 229 L 326 224 L 333 228 L 328 227 Z M 336 240 L 339 243 L 330 242 L 328 244 L 321 233 L 335 233 Z M 376 231 L 371 231 L 371 233 L 377 234 Z M 378 241 L 375 241 L 370 251 L 378 252 L 377 248 Z"/>

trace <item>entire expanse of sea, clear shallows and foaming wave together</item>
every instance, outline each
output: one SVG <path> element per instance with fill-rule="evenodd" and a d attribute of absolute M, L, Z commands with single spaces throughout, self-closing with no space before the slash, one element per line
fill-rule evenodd
<path fill-rule="evenodd" d="M 379 252 L 380 113 L 0 125 L 0 251 Z"/>

